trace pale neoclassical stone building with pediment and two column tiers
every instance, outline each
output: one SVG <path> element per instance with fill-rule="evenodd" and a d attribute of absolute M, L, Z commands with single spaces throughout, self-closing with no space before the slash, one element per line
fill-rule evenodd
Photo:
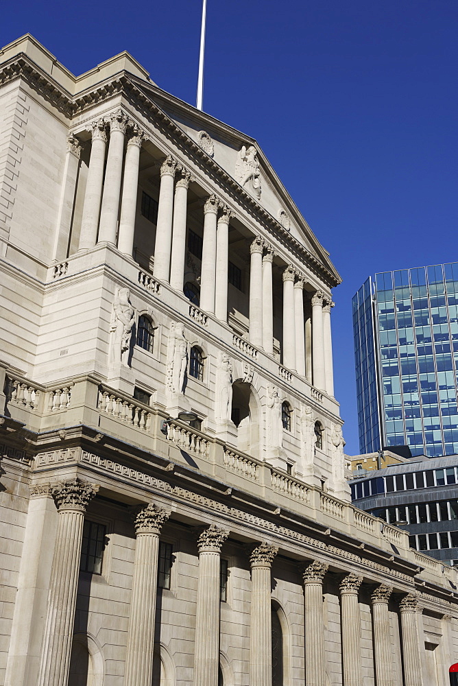
<path fill-rule="evenodd" d="M 126 53 L 0 62 L 0 684 L 448 684 L 457 573 L 350 503 L 339 274 L 258 143 Z"/>

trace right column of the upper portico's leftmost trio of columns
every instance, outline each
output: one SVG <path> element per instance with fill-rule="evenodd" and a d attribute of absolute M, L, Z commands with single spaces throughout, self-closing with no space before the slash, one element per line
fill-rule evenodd
<path fill-rule="evenodd" d="M 136 215 L 136 196 L 138 191 L 138 165 L 143 143 L 143 131 L 134 126 L 125 151 L 123 196 L 121 200 L 121 219 L 119 220 L 118 250 L 132 257 Z"/>

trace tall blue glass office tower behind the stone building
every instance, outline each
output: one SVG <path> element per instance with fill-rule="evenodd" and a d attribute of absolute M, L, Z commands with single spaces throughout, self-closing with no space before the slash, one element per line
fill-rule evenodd
<path fill-rule="evenodd" d="M 352 306 L 360 452 L 458 453 L 458 263 L 376 274 Z"/>

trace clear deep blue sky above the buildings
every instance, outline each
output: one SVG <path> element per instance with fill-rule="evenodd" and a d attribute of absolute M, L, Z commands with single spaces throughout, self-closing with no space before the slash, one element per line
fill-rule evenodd
<path fill-rule="evenodd" d="M 201 0 L 2 8 L 73 73 L 128 50 L 195 103 Z M 336 397 L 357 453 L 351 298 L 369 274 L 458 259 L 456 0 L 208 0 L 204 110 L 255 137 L 330 252 Z"/>

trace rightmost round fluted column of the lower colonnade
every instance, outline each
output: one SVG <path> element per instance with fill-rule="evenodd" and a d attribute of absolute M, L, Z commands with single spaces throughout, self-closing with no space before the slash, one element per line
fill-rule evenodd
<path fill-rule="evenodd" d="M 404 685 L 423 686 L 420 639 L 418 637 L 418 598 L 405 595 L 399 603 L 402 634 Z"/>

